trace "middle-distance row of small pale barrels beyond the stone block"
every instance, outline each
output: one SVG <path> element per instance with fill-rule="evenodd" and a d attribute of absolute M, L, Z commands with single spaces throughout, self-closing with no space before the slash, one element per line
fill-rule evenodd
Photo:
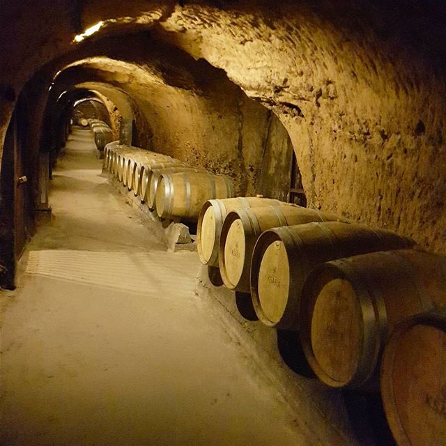
<path fill-rule="evenodd" d="M 233 197 L 229 178 L 118 141 L 105 146 L 105 169 L 166 219 L 197 221 L 206 200 Z"/>

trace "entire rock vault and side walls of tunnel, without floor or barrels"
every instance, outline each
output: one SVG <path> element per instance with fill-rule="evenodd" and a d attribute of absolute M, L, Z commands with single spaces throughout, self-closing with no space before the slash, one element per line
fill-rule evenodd
<path fill-rule="evenodd" d="M 72 105 L 93 97 L 122 145 L 445 252 L 442 2 L 254 3 L 6 1 L 1 286 Z"/>

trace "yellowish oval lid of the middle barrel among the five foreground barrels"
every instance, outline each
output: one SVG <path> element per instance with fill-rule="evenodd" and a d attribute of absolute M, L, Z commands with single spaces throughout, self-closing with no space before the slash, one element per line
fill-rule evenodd
<path fill-rule="evenodd" d="M 274 240 L 263 253 L 257 293 L 263 316 L 271 323 L 281 320 L 289 297 L 290 268 L 286 247 Z"/>

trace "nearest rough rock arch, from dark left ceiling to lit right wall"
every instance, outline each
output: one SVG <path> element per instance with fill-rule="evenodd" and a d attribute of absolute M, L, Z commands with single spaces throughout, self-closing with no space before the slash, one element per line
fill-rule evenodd
<path fill-rule="evenodd" d="M 122 8 L 118 1 L 92 0 L 59 6 L 3 5 L 7 26 L 0 39 L 10 51 L 0 76 L 0 123 L 8 122 L 24 81 L 75 50 L 72 38 L 82 29 L 105 22 L 80 49 L 113 33 L 150 29 L 160 46 L 208 61 L 272 109 L 290 134 L 310 206 L 446 251 L 442 2 L 129 1 Z M 11 36 L 22 37 L 11 43 Z M 176 77 L 165 80 L 178 86 Z M 4 132 L 3 125 L 0 136 Z"/>

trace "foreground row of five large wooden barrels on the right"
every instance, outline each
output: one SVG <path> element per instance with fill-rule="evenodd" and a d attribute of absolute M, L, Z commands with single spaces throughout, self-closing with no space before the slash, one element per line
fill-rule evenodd
<path fill-rule="evenodd" d="M 197 247 L 262 323 L 295 331 L 325 385 L 380 384 L 399 445 L 445 446 L 446 256 L 256 197 L 206 201 Z"/>

